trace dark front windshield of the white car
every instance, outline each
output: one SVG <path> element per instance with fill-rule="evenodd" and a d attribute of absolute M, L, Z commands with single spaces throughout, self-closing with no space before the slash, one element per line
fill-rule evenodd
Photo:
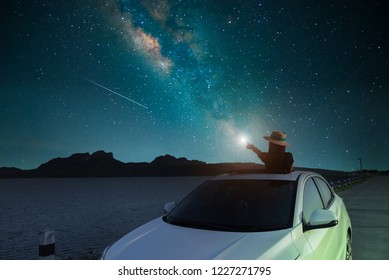
<path fill-rule="evenodd" d="M 164 221 L 223 231 L 270 231 L 292 226 L 296 183 L 280 180 L 207 181 Z"/>

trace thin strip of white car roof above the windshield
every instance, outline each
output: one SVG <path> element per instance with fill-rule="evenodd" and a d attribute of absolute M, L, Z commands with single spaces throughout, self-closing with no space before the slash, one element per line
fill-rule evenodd
<path fill-rule="evenodd" d="M 254 171 L 236 171 L 229 172 L 225 174 L 218 175 L 213 177 L 211 180 L 282 180 L 282 181 L 297 181 L 300 175 L 317 175 L 314 172 L 309 171 L 293 171 L 291 173 L 286 174 L 278 174 L 278 173 L 268 173 L 262 170 Z"/>

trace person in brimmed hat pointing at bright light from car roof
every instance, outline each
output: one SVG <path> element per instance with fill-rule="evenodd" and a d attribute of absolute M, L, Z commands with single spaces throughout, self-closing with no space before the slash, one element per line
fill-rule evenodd
<path fill-rule="evenodd" d="M 252 150 L 265 164 L 265 169 L 272 173 L 290 173 L 293 169 L 293 155 L 286 153 L 285 148 L 289 146 L 286 142 L 286 134 L 274 130 L 270 136 L 264 136 L 269 141 L 269 152 L 262 152 L 253 144 L 247 143 L 246 148 Z"/>

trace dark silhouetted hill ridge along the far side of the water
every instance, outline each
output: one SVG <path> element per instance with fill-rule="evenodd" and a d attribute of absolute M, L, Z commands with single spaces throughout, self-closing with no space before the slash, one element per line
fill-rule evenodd
<path fill-rule="evenodd" d="M 231 170 L 258 169 L 255 163 L 217 163 L 164 155 L 152 162 L 124 163 L 111 152 L 76 153 L 54 158 L 32 170 L 0 168 L 0 178 L 30 177 L 135 177 L 135 176 L 212 176 Z"/>

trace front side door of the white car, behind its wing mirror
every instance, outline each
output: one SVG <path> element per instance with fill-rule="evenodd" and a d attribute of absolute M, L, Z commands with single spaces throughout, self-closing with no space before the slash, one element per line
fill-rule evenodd
<path fill-rule="evenodd" d="M 320 187 L 314 177 L 306 180 L 303 193 L 303 223 L 309 224 L 310 217 L 316 209 L 331 209 L 332 194 L 321 194 Z M 336 211 L 334 211 L 336 213 Z M 304 232 L 315 259 L 336 259 L 339 247 L 336 240 L 336 226 L 328 228 L 310 229 Z"/>

